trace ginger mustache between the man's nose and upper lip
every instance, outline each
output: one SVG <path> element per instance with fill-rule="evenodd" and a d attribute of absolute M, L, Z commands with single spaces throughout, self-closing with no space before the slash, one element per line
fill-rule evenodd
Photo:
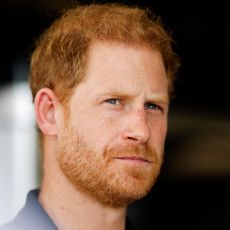
<path fill-rule="evenodd" d="M 154 164 L 159 162 L 155 149 L 149 145 L 126 144 L 106 148 L 104 159 L 110 161 L 114 158 L 139 158 Z"/>

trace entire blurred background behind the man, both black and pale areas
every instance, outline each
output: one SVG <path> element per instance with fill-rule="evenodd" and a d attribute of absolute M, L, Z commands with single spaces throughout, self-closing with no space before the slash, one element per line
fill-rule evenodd
<path fill-rule="evenodd" d="M 78 1 L 90 3 L 92 1 Z M 109 1 L 94 1 L 109 2 Z M 119 1 L 117 1 L 119 2 Z M 230 16 L 226 1 L 120 1 L 160 15 L 182 67 L 171 103 L 162 173 L 130 206 L 138 229 L 230 229 Z M 0 224 L 39 186 L 40 157 L 28 89 L 38 36 L 71 0 L 0 2 Z"/>

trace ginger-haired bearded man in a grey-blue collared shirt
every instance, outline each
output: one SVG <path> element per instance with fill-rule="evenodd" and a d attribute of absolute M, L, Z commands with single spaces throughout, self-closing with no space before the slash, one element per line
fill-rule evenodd
<path fill-rule="evenodd" d="M 157 18 L 104 4 L 67 11 L 32 55 L 43 179 L 11 229 L 124 230 L 159 174 L 178 59 Z"/>

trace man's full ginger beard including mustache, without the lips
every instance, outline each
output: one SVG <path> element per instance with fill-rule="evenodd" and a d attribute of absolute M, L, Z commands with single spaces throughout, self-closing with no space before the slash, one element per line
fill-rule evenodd
<path fill-rule="evenodd" d="M 162 163 L 148 146 L 105 147 L 96 152 L 70 122 L 59 140 L 57 152 L 61 170 L 75 188 L 113 208 L 144 197 L 155 183 Z M 151 163 L 137 166 L 115 159 L 133 155 Z"/>

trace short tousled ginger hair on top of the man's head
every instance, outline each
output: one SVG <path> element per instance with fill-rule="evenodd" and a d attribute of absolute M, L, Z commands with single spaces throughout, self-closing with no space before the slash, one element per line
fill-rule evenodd
<path fill-rule="evenodd" d="M 169 91 L 173 91 L 179 60 L 160 18 L 134 6 L 91 4 L 64 12 L 37 41 L 30 68 L 33 100 L 41 88 L 48 87 L 60 101 L 68 101 L 84 78 L 87 52 L 94 40 L 144 45 L 160 51 Z"/>

